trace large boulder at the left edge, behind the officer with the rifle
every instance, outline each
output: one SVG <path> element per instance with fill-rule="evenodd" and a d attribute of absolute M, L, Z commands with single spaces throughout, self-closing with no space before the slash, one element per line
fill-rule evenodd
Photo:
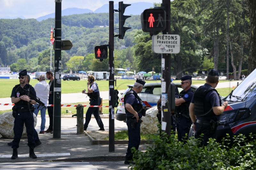
<path fill-rule="evenodd" d="M 34 115 L 34 127 L 36 127 L 36 115 Z M 13 125 L 14 125 L 14 117 L 12 116 L 12 112 L 5 112 L 0 115 L 0 135 L 4 138 L 13 138 Z M 26 127 L 24 124 L 22 138 L 27 138 Z"/>

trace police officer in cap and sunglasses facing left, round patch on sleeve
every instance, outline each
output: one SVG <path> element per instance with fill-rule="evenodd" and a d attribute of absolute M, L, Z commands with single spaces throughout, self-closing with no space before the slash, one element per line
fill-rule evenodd
<path fill-rule="evenodd" d="M 188 139 L 188 133 L 191 127 L 191 119 L 189 117 L 189 105 L 194 92 L 191 89 L 192 76 L 184 76 L 181 78 L 181 88 L 183 89 L 175 99 L 176 111 L 176 128 L 178 140 L 185 141 Z M 187 136 L 186 136 L 187 134 Z"/>

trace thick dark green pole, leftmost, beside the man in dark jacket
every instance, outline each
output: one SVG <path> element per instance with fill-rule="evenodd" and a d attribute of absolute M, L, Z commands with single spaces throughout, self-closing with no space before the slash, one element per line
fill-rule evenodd
<path fill-rule="evenodd" d="M 61 133 L 61 1 L 55 0 L 53 138 Z"/>

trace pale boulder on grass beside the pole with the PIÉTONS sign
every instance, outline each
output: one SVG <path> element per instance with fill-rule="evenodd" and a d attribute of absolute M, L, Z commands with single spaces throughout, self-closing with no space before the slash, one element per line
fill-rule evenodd
<path fill-rule="evenodd" d="M 142 116 L 142 123 L 140 125 L 140 132 L 142 134 L 154 134 L 157 133 L 158 128 L 157 125 L 159 124 L 157 120 L 157 115 L 158 110 L 157 107 L 151 107 L 150 109 L 147 110 L 146 116 Z"/>

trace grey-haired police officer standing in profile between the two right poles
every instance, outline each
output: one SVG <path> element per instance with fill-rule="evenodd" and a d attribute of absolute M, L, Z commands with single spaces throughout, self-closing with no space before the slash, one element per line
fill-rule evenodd
<path fill-rule="evenodd" d="M 139 98 L 138 93 L 142 91 L 145 81 L 137 78 L 132 89 L 124 96 L 124 106 L 126 113 L 126 124 L 128 127 L 128 149 L 125 156 L 124 164 L 132 162 L 131 148 L 139 149 L 140 145 L 140 123 L 143 115 L 142 100 Z"/>

